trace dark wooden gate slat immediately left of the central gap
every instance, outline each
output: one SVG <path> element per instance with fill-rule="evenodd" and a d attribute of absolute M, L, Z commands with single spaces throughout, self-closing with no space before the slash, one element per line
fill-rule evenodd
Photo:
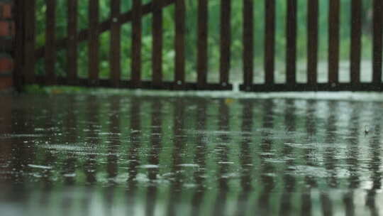
<path fill-rule="evenodd" d="M 231 0 L 221 0 L 221 58 L 220 58 L 220 84 L 228 85 L 230 71 L 231 46 Z"/>

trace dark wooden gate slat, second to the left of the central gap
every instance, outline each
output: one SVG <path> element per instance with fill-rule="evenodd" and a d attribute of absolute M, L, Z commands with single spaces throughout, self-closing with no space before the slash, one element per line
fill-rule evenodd
<path fill-rule="evenodd" d="M 198 1 L 198 56 L 197 56 L 197 82 L 199 87 L 204 87 L 207 82 L 208 70 L 208 1 Z"/>

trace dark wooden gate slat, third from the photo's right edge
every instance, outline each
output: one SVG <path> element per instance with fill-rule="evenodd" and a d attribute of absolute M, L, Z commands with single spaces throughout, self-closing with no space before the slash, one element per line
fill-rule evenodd
<path fill-rule="evenodd" d="M 328 82 L 338 82 L 339 72 L 339 0 L 328 0 Z"/>

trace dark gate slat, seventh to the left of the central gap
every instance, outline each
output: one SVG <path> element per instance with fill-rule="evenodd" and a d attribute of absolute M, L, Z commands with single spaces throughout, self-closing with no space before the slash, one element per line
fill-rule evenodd
<path fill-rule="evenodd" d="M 99 0 L 89 0 L 89 84 L 99 80 Z"/>

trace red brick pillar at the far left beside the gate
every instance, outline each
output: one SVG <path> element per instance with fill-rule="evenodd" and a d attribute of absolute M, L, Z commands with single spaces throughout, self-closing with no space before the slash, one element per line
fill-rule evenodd
<path fill-rule="evenodd" d="M 0 90 L 13 86 L 13 0 L 0 0 Z"/>

